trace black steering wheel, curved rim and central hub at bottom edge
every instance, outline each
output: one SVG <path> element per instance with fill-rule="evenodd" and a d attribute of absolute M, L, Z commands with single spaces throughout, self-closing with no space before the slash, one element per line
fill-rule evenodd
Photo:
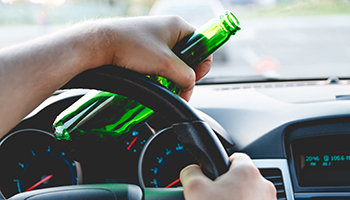
<path fill-rule="evenodd" d="M 134 99 L 162 115 L 171 124 L 182 145 L 193 154 L 211 179 L 225 173 L 228 155 L 203 119 L 183 99 L 145 75 L 112 65 L 88 70 L 62 89 L 103 90 Z M 184 199 L 179 188 L 143 188 L 131 184 L 94 184 L 54 187 L 20 193 L 11 199 Z"/>

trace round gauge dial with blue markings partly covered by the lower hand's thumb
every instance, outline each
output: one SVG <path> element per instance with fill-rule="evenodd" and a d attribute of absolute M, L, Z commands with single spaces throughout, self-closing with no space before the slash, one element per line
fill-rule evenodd
<path fill-rule="evenodd" d="M 180 171 L 197 163 L 177 139 L 172 129 L 159 132 L 145 145 L 139 161 L 139 181 L 143 187 L 181 186 Z"/>

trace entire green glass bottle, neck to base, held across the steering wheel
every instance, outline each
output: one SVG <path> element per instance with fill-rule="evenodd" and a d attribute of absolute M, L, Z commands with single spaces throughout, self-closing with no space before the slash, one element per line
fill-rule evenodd
<path fill-rule="evenodd" d="M 183 38 L 173 51 L 187 65 L 195 68 L 238 30 L 238 19 L 226 11 Z M 181 93 L 179 87 L 166 78 L 155 75 L 147 77 L 173 93 Z M 149 120 L 153 113 L 153 110 L 127 97 L 92 90 L 56 118 L 54 133 L 57 140 L 64 141 L 79 160 L 80 155 L 93 157 L 99 150 L 119 141 L 126 133 Z"/>

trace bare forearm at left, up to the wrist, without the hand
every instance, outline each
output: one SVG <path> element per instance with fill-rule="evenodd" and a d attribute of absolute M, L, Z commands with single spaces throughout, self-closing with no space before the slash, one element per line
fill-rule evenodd
<path fill-rule="evenodd" d="M 98 31 L 82 24 L 0 50 L 0 137 L 71 78 L 104 64 Z"/>

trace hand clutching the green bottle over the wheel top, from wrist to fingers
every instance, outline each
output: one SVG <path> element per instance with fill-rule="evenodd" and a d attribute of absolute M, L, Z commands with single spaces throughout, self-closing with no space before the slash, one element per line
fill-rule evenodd
<path fill-rule="evenodd" d="M 176 16 L 137 17 L 106 20 L 103 23 L 105 52 L 103 64 L 114 64 L 143 74 L 166 77 L 178 84 L 189 100 L 195 81 L 206 75 L 212 57 L 200 64 L 195 72 L 172 51 L 173 46 L 195 28 Z"/>

